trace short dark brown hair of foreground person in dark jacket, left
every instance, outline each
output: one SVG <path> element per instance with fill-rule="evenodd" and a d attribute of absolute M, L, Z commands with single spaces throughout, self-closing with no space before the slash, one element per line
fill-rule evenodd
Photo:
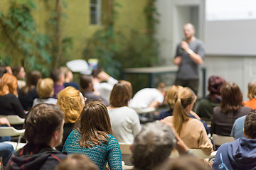
<path fill-rule="evenodd" d="M 63 111 L 53 104 L 41 103 L 28 112 L 24 137 L 31 145 L 48 145 L 63 123 Z"/>

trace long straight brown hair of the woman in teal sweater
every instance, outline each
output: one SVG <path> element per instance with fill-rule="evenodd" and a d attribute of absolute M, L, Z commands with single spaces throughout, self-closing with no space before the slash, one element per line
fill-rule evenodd
<path fill-rule="evenodd" d="M 78 141 L 80 147 L 89 148 L 102 142 L 107 143 L 107 134 L 112 135 L 112 128 L 105 104 L 100 101 L 85 103 L 75 128 L 82 135 Z"/>

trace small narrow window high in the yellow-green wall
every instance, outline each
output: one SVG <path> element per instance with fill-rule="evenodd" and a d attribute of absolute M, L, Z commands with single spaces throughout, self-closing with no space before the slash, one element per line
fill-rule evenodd
<path fill-rule="evenodd" d="M 90 24 L 101 24 L 101 0 L 90 0 Z"/>

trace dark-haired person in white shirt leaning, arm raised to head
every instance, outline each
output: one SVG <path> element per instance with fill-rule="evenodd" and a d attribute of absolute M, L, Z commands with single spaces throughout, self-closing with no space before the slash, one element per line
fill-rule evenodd
<path fill-rule="evenodd" d="M 116 83 L 117 80 L 113 77 L 110 77 L 110 75 L 104 72 L 103 69 L 97 68 L 92 70 L 93 87 L 96 91 L 100 93 L 100 96 L 102 96 L 105 101 L 110 102 L 110 93 L 113 89 L 114 84 Z"/>

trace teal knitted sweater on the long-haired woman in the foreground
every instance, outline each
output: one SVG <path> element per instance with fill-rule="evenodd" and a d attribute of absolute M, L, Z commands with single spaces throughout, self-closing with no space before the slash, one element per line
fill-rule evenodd
<path fill-rule="evenodd" d="M 106 169 L 107 162 L 110 170 L 122 169 L 121 150 L 117 140 L 112 135 L 108 134 L 109 140 L 107 144 L 101 143 L 90 148 L 80 147 L 78 140 L 81 137 L 82 135 L 80 135 L 78 130 L 70 132 L 63 147 L 63 152 L 68 152 L 68 154 L 86 154 L 101 170 Z"/>

